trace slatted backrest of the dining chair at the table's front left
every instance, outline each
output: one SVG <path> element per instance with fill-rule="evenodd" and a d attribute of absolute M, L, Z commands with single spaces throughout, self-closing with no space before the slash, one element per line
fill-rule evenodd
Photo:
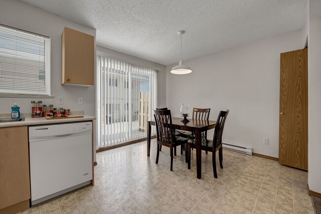
<path fill-rule="evenodd" d="M 156 124 L 157 140 L 172 145 L 172 117 L 170 110 L 153 110 L 153 113 Z"/>

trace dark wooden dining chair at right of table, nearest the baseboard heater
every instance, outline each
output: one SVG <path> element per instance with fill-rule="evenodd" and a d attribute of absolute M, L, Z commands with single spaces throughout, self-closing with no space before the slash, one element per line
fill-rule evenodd
<path fill-rule="evenodd" d="M 214 177 L 217 178 L 216 172 L 216 152 L 218 150 L 218 157 L 220 161 L 220 167 L 223 169 L 223 148 L 222 148 L 222 134 L 224 129 L 224 124 L 229 110 L 220 111 L 218 114 L 213 140 L 207 139 L 206 141 L 201 141 L 201 149 L 204 151 L 212 152 L 212 164 L 213 164 L 213 173 Z M 191 169 L 191 148 L 196 148 L 195 141 L 188 141 L 187 143 L 187 160 L 188 160 L 188 169 Z"/>

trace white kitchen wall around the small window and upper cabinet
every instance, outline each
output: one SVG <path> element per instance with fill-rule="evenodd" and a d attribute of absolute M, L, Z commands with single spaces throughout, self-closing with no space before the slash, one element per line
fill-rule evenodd
<path fill-rule="evenodd" d="M 51 38 L 51 95 L 54 99 L 38 98 L 2 98 L 0 112 L 11 112 L 13 103 L 18 103 L 22 113 L 31 112 L 31 100 L 42 100 L 43 104 L 54 107 L 84 110 L 85 115 L 95 116 L 95 86 L 61 86 L 61 33 L 69 27 L 83 33 L 96 36 L 96 30 L 51 14 L 38 7 L 17 0 L 1 0 L 0 23 L 22 30 L 45 35 Z M 64 104 L 58 105 L 58 96 L 64 96 Z M 83 97 L 83 104 L 78 105 L 78 97 Z"/>

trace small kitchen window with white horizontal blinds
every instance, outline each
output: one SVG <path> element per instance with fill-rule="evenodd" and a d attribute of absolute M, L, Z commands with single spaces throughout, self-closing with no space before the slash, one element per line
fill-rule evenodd
<path fill-rule="evenodd" d="M 50 95 L 50 38 L 0 25 L 0 93 Z"/>

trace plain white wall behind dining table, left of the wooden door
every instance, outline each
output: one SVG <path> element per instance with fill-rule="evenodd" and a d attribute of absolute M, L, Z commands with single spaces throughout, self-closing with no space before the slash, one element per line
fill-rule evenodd
<path fill-rule="evenodd" d="M 210 120 L 229 109 L 223 142 L 279 157 L 280 53 L 302 47 L 299 30 L 184 61 L 193 70 L 188 75 L 170 74 L 174 65 L 166 66 L 167 107 L 173 116 L 180 116 L 181 102 L 191 110 L 211 108 Z"/>

